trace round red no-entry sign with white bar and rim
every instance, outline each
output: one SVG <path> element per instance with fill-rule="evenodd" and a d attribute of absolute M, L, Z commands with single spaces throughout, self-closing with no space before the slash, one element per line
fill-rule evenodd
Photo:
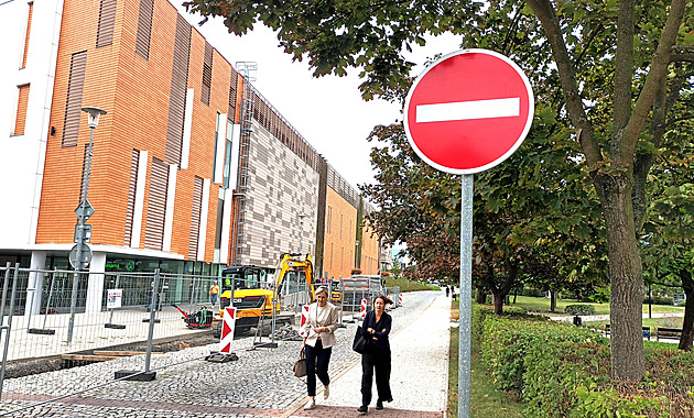
<path fill-rule="evenodd" d="M 473 174 L 520 146 L 534 99 L 528 78 L 508 57 L 462 50 L 418 77 L 404 109 L 405 133 L 422 160 L 447 173 Z"/>

